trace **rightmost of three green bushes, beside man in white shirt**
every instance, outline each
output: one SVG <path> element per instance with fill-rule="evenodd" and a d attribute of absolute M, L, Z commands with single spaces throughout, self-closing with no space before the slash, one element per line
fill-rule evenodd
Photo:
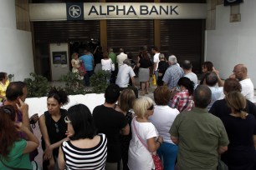
<path fill-rule="evenodd" d="M 105 92 L 106 87 L 110 84 L 109 72 L 99 71 L 90 77 L 90 86 L 93 87 L 92 92 Z"/>

